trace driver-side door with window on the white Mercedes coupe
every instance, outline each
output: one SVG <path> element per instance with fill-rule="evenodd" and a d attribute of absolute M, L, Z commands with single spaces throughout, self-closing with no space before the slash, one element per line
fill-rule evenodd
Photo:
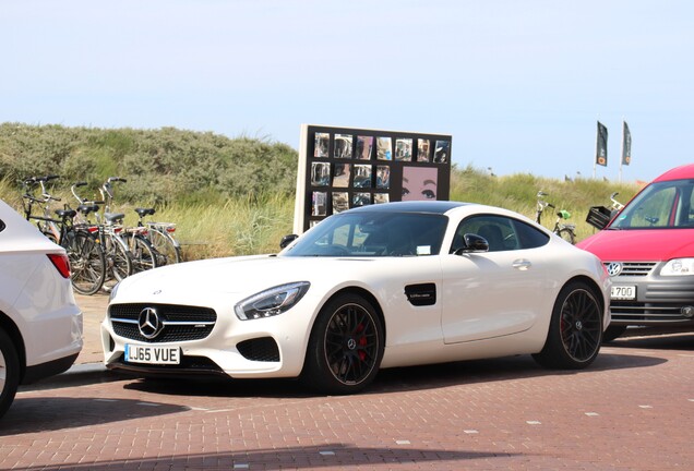
<path fill-rule="evenodd" d="M 442 330 L 446 343 L 508 336 L 533 326 L 549 283 L 543 246 L 549 235 L 505 216 L 463 220 L 454 239 L 476 233 L 489 252 L 444 255 Z"/>

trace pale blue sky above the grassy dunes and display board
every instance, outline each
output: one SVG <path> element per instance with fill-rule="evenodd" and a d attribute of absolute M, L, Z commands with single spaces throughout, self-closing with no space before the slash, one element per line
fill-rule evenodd
<path fill-rule="evenodd" d="M 0 9 L 0 122 L 176 126 L 284 142 L 300 125 L 453 135 L 494 173 L 618 180 L 694 161 L 694 3 L 46 0 Z"/>

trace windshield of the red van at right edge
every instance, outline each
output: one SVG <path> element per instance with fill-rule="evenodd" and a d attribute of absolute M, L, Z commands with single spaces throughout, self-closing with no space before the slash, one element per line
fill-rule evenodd
<path fill-rule="evenodd" d="M 609 229 L 694 228 L 694 180 L 648 185 L 612 221 Z"/>

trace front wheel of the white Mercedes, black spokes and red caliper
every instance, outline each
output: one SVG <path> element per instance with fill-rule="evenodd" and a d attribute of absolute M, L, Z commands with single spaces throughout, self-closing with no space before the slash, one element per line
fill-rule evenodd
<path fill-rule="evenodd" d="M 307 350 L 303 383 L 325 394 L 355 394 L 379 372 L 384 350 L 381 317 L 360 295 L 345 293 L 319 314 Z"/>

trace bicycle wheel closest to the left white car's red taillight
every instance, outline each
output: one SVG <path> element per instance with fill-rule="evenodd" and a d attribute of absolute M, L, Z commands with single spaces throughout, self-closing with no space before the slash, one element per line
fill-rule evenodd
<path fill-rule="evenodd" d="M 80 294 L 96 293 L 106 279 L 106 259 L 101 245 L 88 232 L 65 233 L 62 246 L 68 252 L 72 287 Z"/>

